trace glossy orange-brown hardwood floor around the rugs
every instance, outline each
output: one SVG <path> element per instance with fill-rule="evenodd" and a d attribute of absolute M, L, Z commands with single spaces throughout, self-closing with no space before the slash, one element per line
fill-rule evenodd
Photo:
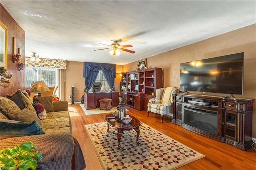
<path fill-rule="evenodd" d="M 233 146 L 212 140 L 190 132 L 171 122 L 171 118 L 164 117 L 164 122 L 160 122 L 160 115 L 150 114 L 147 117 L 146 111 L 137 111 L 126 107 L 130 115 L 139 119 L 142 123 L 170 136 L 174 140 L 204 154 L 206 157 L 191 162 L 179 168 L 193 170 L 255 170 L 256 169 L 256 150 L 250 148 L 247 151 L 234 148 Z M 86 161 L 85 170 L 102 170 L 100 161 L 94 151 L 92 142 L 86 132 L 84 125 L 104 122 L 106 114 L 85 115 L 79 104 L 69 105 L 70 118 L 72 121 L 72 134 L 78 140 L 84 153 Z M 256 147 L 256 144 L 254 145 Z"/>

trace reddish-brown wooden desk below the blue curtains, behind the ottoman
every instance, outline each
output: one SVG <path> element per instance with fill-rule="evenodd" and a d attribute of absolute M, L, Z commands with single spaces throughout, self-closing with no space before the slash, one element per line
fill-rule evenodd
<path fill-rule="evenodd" d="M 84 93 L 84 107 L 86 110 L 96 109 L 100 106 L 100 99 L 104 98 L 112 99 L 112 107 L 119 104 L 119 92 Z"/>

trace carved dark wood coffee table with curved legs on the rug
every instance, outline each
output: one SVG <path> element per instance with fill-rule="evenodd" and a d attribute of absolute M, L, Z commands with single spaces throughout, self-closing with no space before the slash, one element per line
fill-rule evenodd
<path fill-rule="evenodd" d="M 117 148 L 118 149 L 120 149 L 120 147 L 121 147 L 120 146 L 120 141 L 121 141 L 121 136 L 124 133 L 124 130 L 134 129 L 137 132 L 136 142 L 137 142 L 137 144 L 140 144 L 138 142 L 138 138 L 140 136 L 140 129 L 139 129 L 140 121 L 138 119 L 136 119 L 135 117 L 132 117 L 130 115 L 130 117 L 132 118 L 132 121 L 130 121 L 130 123 L 128 123 L 128 124 L 125 124 L 122 121 L 118 121 L 116 119 L 110 119 L 111 117 L 114 117 L 112 115 L 112 113 L 109 114 L 109 115 L 106 115 L 105 121 L 106 121 L 106 123 L 108 123 L 108 131 L 109 131 L 109 126 L 115 127 L 116 130 L 117 130 L 117 140 L 118 140 Z"/>

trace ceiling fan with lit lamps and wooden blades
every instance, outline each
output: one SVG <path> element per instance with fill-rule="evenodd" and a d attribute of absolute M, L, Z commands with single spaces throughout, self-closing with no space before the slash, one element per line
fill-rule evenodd
<path fill-rule="evenodd" d="M 129 52 L 129 53 L 135 53 L 135 51 L 125 49 L 125 47 L 132 47 L 132 45 L 120 45 L 120 43 L 118 43 L 118 42 L 122 42 L 122 40 L 111 40 L 111 41 L 113 41 L 113 43 L 111 45 L 100 43 L 102 45 L 109 46 L 109 48 L 103 48 L 103 49 L 112 48 L 112 50 L 109 52 L 111 55 L 120 55 L 119 50 L 126 51 L 126 52 Z M 97 51 L 97 50 L 102 50 L 102 49 L 95 49 L 94 51 Z"/>

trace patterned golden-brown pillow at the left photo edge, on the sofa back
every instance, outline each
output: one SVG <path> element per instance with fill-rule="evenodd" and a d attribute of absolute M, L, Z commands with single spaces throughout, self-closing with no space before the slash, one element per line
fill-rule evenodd
<path fill-rule="evenodd" d="M 6 98 L 0 97 L 0 110 L 1 113 L 8 118 L 9 113 L 16 113 L 20 111 L 20 108 L 14 103 L 14 101 Z"/>

